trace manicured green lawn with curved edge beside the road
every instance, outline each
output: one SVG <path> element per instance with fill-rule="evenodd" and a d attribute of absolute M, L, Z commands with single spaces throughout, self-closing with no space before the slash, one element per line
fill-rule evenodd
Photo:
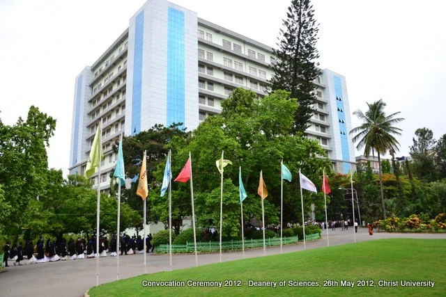
<path fill-rule="evenodd" d="M 318 248 L 283 255 L 211 264 L 141 275 L 90 289 L 95 296 L 444 296 L 446 240 L 383 239 Z M 188 286 L 187 281 L 223 282 L 222 287 Z M 224 287 L 224 281 L 229 287 Z M 231 282 L 231 280 L 233 282 Z M 277 282 L 277 287 L 250 287 L 249 280 Z M 324 287 L 332 280 L 332 287 Z M 342 286 L 350 281 L 352 287 Z M 398 287 L 383 287 L 379 281 Z M 162 287 L 147 282 L 185 282 Z M 240 282 L 239 282 L 240 281 Z M 316 287 L 290 282 L 318 282 Z M 402 287 L 401 281 L 431 281 L 431 287 Z M 279 282 L 284 282 L 280 286 Z M 358 286 L 362 282 L 364 287 Z M 372 283 L 373 282 L 373 285 Z M 235 286 L 240 284 L 240 287 Z M 391 283 L 392 284 L 392 283 Z"/>

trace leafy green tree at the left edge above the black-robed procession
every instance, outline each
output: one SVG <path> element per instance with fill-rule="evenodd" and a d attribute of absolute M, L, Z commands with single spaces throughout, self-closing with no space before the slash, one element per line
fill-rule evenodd
<path fill-rule="evenodd" d="M 8 234 L 20 234 L 39 211 L 33 202 L 47 190 L 46 147 L 55 128 L 56 120 L 35 106 L 13 126 L 0 122 L 0 185 L 8 207 L 0 225 Z"/>

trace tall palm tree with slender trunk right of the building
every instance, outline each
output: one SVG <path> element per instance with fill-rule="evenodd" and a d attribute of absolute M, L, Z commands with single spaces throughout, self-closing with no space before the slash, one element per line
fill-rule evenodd
<path fill-rule="evenodd" d="M 362 120 L 362 125 L 350 131 L 350 134 L 356 134 L 353 136 L 353 142 L 357 142 L 356 148 L 360 150 L 364 147 L 364 155 L 366 157 L 370 156 L 370 153 L 373 156 L 375 152 L 378 154 L 379 184 L 384 218 L 387 218 L 387 215 L 385 214 L 380 155 L 385 154 L 387 150 L 398 151 L 399 143 L 393 135 L 401 135 L 400 131 L 402 130 L 392 125 L 404 120 L 403 118 L 396 118 L 396 115 L 400 112 L 386 115 L 384 111 L 386 105 L 383 99 L 379 99 L 372 104 L 367 103 L 369 110 L 366 113 L 362 113 L 359 109 L 353 112 L 353 115 Z"/>

